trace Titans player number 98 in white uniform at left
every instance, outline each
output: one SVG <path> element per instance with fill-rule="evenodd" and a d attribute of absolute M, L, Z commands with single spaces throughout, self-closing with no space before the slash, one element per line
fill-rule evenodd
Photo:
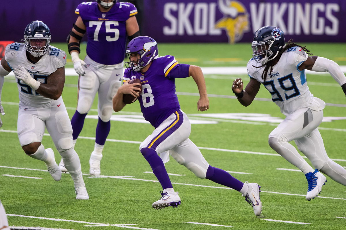
<path fill-rule="evenodd" d="M 24 31 L 25 44 L 15 42 L 7 45 L 0 64 L 0 82 L 3 82 L 3 76 L 13 70 L 20 100 L 18 138 L 24 152 L 45 162 L 55 181 L 61 179 L 54 151 L 41 143 L 47 128 L 73 179 L 76 199 L 88 200 L 81 163 L 72 144 L 70 118 L 61 96 L 65 83 L 66 54 L 49 45 L 51 37 L 51 31 L 44 22 L 30 22 Z M 0 94 L 1 89 L 2 84 Z"/>

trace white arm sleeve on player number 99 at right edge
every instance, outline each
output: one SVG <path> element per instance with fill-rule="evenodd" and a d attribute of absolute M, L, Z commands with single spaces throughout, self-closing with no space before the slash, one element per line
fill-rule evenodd
<path fill-rule="evenodd" d="M 346 83 L 346 77 L 340 66 L 333 60 L 324 57 L 317 57 L 315 64 L 311 68 L 315 72 L 328 72 L 340 86 Z"/>

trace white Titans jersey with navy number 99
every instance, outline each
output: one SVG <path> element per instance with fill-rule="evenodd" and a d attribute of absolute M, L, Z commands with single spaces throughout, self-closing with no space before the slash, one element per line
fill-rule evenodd
<path fill-rule="evenodd" d="M 322 108 L 318 107 L 321 103 L 313 102 L 315 99 L 307 85 L 305 70 L 298 69 L 307 58 L 307 53 L 296 46 L 284 51 L 273 70 L 267 74 L 265 82 L 262 79 L 264 67 L 256 68 L 262 64 L 257 63 L 254 58 L 247 64 L 247 73 L 265 86 L 284 115 L 288 116 L 304 106 L 320 110 Z"/>

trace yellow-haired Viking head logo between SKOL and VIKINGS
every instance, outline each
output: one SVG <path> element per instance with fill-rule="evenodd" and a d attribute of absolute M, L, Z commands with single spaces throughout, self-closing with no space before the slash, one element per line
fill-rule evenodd
<path fill-rule="evenodd" d="M 218 8 L 224 17 L 216 22 L 215 28 L 226 30 L 229 43 L 242 39 L 244 32 L 250 30 L 248 14 L 243 4 L 238 1 L 218 0 Z"/>

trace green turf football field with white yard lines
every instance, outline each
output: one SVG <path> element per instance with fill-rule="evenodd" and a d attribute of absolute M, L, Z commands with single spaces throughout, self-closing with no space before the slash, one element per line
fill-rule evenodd
<path fill-rule="evenodd" d="M 66 50 L 66 44 L 52 44 Z M 314 55 L 346 65 L 345 44 L 307 45 Z M 82 45 L 82 50 L 85 50 Z M 203 67 L 246 66 L 251 57 L 249 44 L 159 44 L 160 55 L 173 55 L 180 63 Z M 66 68 L 73 68 L 67 56 Z M 13 229 L 346 229 L 346 187 L 327 177 L 321 197 L 306 201 L 307 181 L 302 172 L 277 155 L 268 145 L 268 134 L 283 119 L 280 108 L 270 100 L 262 86 L 249 107 L 240 105 L 231 91 L 235 78 L 248 76 L 205 75 L 210 94 L 210 109 L 197 111 L 197 86 L 192 78 L 177 79 L 176 91 L 182 110 L 195 122 L 190 139 L 201 149 L 212 166 L 230 171 L 241 181 L 262 186 L 263 211 L 256 217 L 252 207 L 235 190 L 209 180 L 201 180 L 174 159 L 166 163 L 174 189 L 182 204 L 178 208 L 155 210 L 151 204 L 160 199 L 161 186 L 138 147 L 153 127 L 146 123 L 111 121 L 111 131 L 103 150 L 101 175 L 89 176 L 89 157 L 93 151 L 97 119 L 87 118 L 75 150 L 80 156 L 84 181 L 90 200 L 75 200 L 69 174 L 54 181 L 45 164 L 26 156 L 17 136 L 18 90 L 13 77 L 6 77 L 2 89 L 0 128 L 0 199 Z M 320 133 L 331 159 L 346 167 L 346 100 L 341 87 L 329 75 L 308 75 L 311 92 L 327 103 L 325 117 L 338 120 L 322 122 Z M 78 77 L 66 76 L 63 98 L 70 118 L 76 108 Z M 95 99 L 97 102 L 97 99 Z M 226 113 L 228 116 L 225 116 Z M 230 114 L 231 113 L 231 114 Z M 267 119 L 250 121 L 233 113 L 264 114 Z M 213 117 L 202 117 L 214 114 Z M 233 114 L 233 117 L 231 116 Z M 97 103 L 88 115 L 97 116 Z M 141 115 L 138 103 L 127 105 L 114 115 Z M 263 116 L 264 116 L 263 115 Z M 140 116 L 139 116 L 140 117 Z M 340 118 L 343 117 L 344 119 Z M 118 118 L 119 119 L 119 118 Z M 42 143 L 60 155 L 51 138 Z M 310 162 L 309 162 L 310 163 Z M 281 170 L 279 170 L 281 169 Z M 17 177 L 26 176 L 30 178 Z M 275 221 L 273 221 L 275 220 Z M 276 222 L 288 221 L 288 222 Z M 203 224 L 200 224 L 203 223 Z M 209 224 L 209 225 L 206 225 Z M 212 225 L 210 225 L 212 224 Z M 233 227 L 231 227 L 233 226 Z M 19 228 L 21 227 L 21 228 Z M 27 227 L 27 228 L 25 228 Z"/>

